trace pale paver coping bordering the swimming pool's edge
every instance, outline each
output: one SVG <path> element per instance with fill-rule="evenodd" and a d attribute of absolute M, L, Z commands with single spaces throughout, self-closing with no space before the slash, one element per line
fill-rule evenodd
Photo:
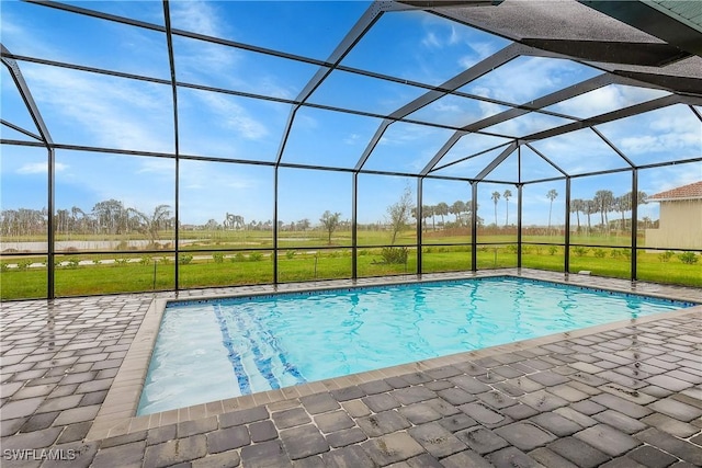
<path fill-rule="evenodd" d="M 510 270 L 510 272 L 513 272 Z M 161 323 L 162 315 L 169 303 L 180 303 L 183 300 L 192 301 L 206 301 L 222 298 L 238 298 L 238 297 L 254 297 L 261 295 L 281 294 L 281 293 L 304 293 L 304 292 L 320 292 L 330 289 L 347 289 L 347 288 L 362 288 L 364 286 L 390 286 L 397 284 L 407 283 L 428 283 L 435 281 L 452 281 L 452 279 L 476 279 L 486 277 L 499 277 L 511 276 L 521 277 L 526 279 L 546 281 L 552 283 L 561 283 L 571 286 L 582 286 L 600 290 L 610 290 L 624 294 L 636 294 L 654 298 L 675 299 L 682 301 L 692 301 L 694 298 L 686 296 L 688 289 L 683 289 L 682 294 L 676 294 L 675 288 L 667 288 L 665 285 L 660 286 L 666 290 L 665 293 L 658 293 L 656 290 L 636 290 L 636 284 L 626 282 L 626 285 L 591 285 L 587 284 L 590 276 L 588 275 L 564 275 L 556 274 L 553 278 L 544 277 L 544 272 L 537 274 L 529 271 L 521 271 L 517 273 L 506 273 L 505 271 L 490 271 L 490 272 L 464 272 L 464 273 L 448 273 L 437 275 L 423 275 L 423 276 L 393 276 L 384 278 L 364 278 L 363 281 L 356 281 L 352 284 L 339 285 L 335 282 L 326 284 L 306 284 L 296 283 L 282 285 L 283 287 L 275 287 L 272 292 L 242 292 L 225 295 L 215 295 L 203 293 L 201 295 L 189 295 L 185 298 L 159 298 L 155 297 L 141 321 L 141 324 L 137 331 L 134 342 L 129 346 L 124 362 L 120 367 L 114 381 L 107 391 L 107 395 L 102 403 L 98 414 L 93 420 L 93 424 L 86 436 L 87 441 L 97 441 L 105 437 L 112 437 L 116 435 L 131 434 L 147 429 L 160 427 L 168 424 L 180 423 L 184 421 L 193 421 L 201 418 L 207 418 L 215 414 L 223 414 L 230 411 L 254 408 L 261 404 L 268 404 L 288 399 L 301 398 L 319 392 L 331 391 L 341 389 L 354 385 L 360 385 L 378 379 L 385 379 L 388 377 L 397 377 L 416 372 L 423 372 L 434 368 L 444 367 L 448 365 L 456 364 L 460 362 L 472 361 L 476 358 L 483 358 L 494 356 L 502 353 L 511 353 L 517 351 L 528 350 L 534 346 L 542 346 L 551 344 L 557 341 L 580 338 L 593 333 L 600 333 L 623 326 L 642 324 L 655 320 L 659 320 L 665 313 L 666 317 L 680 317 L 686 315 L 697 315 L 702 312 L 702 305 L 686 308 L 681 310 L 675 310 L 664 313 L 654 313 L 646 317 L 639 317 L 636 319 L 620 320 L 616 322 L 610 322 L 589 328 L 578 329 L 568 332 L 558 332 L 548 334 L 545 336 L 521 340 L 512 343 L 501 344 L 497 346 L 489 346 L 475 351 L 461 352 L 450 354 L 446 356 L 432 357 L 418 362 L 400 364 L 390 367 L 384 367 L 375 370 L 367 370 L 358 374 L 351 374 L 341 377 L 333 377 L 325 380 L 317 380 L 313 383 L 306 383 L 297 386 L 285 387 L 282 389 L 268 390 L 256 392 L 251 395 L 228 398 L 224 400 L 211 401 L 207 403 L 200 403 L 191 407 L 169 410 L 165 412 L 157 412 L 146 415 L 136 415 L 137 407 L 144 388 L 144 383 L 148 372 L 151 353 L 158 331 Z M 558 278 L 561 276 L 561 278 Z M 372 281 L 366 281 L 372 279 Z M 575 281 L 571 281 L 575 279 Z M 611 279 L 611 278 L 592 278 L 592 279 Z M 347 281 L 348 283 L 348 281 Z M 676 297 L 671 297 L 676 296 Z M 699 301 L 699 300 L 698 300 Z"/>

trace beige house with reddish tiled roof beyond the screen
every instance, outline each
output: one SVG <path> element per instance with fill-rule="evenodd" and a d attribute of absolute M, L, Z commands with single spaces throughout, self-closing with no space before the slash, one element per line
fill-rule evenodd
<path fill-rule="evenodd" d="M 702 181 L 648 197 L 660 203 L 658 229 L 646 229 L 646 247 L 702 249 Z"/>

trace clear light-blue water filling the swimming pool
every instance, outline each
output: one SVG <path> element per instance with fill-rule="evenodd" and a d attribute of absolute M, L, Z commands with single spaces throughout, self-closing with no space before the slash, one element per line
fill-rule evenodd
<path fill-rule="evenodd" d="M 137 413 L 693 305 L 509 276 L 172 303 Z"/>

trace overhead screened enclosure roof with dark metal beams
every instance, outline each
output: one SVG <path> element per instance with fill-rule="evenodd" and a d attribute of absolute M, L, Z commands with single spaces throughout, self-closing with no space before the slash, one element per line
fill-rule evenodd
<path fill-rule="evenodd" d="M 701 161 L 701 23 L 661 0 L 2 2 L 2 141 L 512 183 Z"/>

